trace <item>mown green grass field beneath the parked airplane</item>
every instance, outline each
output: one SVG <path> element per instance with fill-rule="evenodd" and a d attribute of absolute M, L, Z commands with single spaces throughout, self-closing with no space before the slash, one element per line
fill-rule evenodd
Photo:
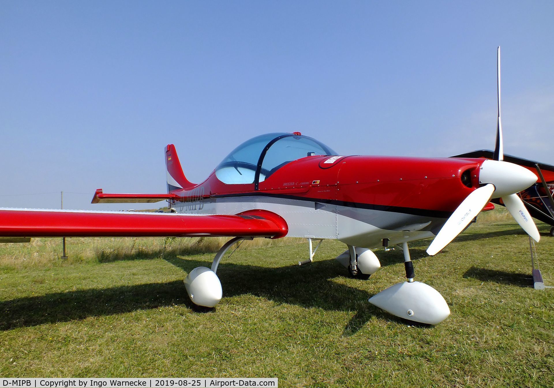
<path fill-rule="evenodd" d="M 554 238 L 538 224 L 545 283 Z M 60 239 L 0 244 L 0 376 L 278 377 L 281 387 L 554 386 L 553 289 L 531 288 L 529 242 L 485 214 L 442 253 L 411 244 L 416 279 L 452 314 L 412 325 L 367 299 L 401 282 L 402 253 L 351 279 L 325 241 L 244 243 L 219 266 L 223 299 L 201 312 L 182 279 L 210 266 L 210 239 Z M 229 251 L 230 252 L 230 251 Z"/>

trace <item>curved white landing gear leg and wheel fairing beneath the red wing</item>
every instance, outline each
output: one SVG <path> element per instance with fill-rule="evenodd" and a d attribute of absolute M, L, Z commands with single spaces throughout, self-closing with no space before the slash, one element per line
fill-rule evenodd
<path fill-rule="evenodd" d="M 223 296 L 221 282 L 216 275 L 219 262 L 227 249 L 242 240 L 252 240 L 254 237 L 235 237 L 226 242 L 213 259 L 212 269 L 206 267 L 194 268 L 186 278 L 184 287 L 192 303 L 203 307 L 215 307 Z"/>

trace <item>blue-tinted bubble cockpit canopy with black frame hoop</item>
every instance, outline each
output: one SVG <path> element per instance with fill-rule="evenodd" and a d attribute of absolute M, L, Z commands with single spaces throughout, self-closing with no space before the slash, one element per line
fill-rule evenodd
<path fill-rule="evenodd" d="M 265 134 L 245 141 L 216 167 L 217 178 L 227 185 L 259 183 L 302 157 L 337 155 L 325 144 L 297 133 Z"/>

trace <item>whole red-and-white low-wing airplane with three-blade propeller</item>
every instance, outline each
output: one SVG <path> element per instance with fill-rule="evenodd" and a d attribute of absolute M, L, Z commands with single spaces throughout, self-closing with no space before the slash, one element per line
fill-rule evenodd
<path fill-rule="evenodd" d="M 500 69 L 500 49 L 497 64 Z M 407 282 L 392 285 L 370 302 L 413 321 L 437 324 L 450 314 L 437 290 L 414 281 L 408 242 L 434 237 L 433 256 L 501 198 L 529 235 L 539 233 L 518 192 L 533 185 L 531 169 L 503 161 L 498 70 L 498 125 L 494 160 L 395 156 L 342 156 L 299 132 L 254 137 L 235 148 L 202 183 L 185 177 L 175 147 L 165 149 L 167 193 L 109 194 L 93 203 L 167 200 L 171 213 L 0 209 L 0 236 L 229 236 L 212 268 L 184 279 L 192 302 L 214 307 L 222 298 L 217 267 L 227 249 L 254 237 L 338 239 L 348 250 L 337 257 L 352 275 L 379 267 L 372 248 L 403 248 Z"/>

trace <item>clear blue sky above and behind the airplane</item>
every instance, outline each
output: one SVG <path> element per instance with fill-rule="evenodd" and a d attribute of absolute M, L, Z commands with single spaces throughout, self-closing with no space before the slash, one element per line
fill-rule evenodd
<path fill-rule="evenodd" d="M 165 192 L 249 137 L 341 154 L 494 147 L 554 164 L 554 2 L 0 2 L 0 206 Z M 50 193 L 43 195 L 24 195 Z M 84 194 L 79 194 L 84 193 Z M 163 202 L 160 203 L 160 206 Z"/>

